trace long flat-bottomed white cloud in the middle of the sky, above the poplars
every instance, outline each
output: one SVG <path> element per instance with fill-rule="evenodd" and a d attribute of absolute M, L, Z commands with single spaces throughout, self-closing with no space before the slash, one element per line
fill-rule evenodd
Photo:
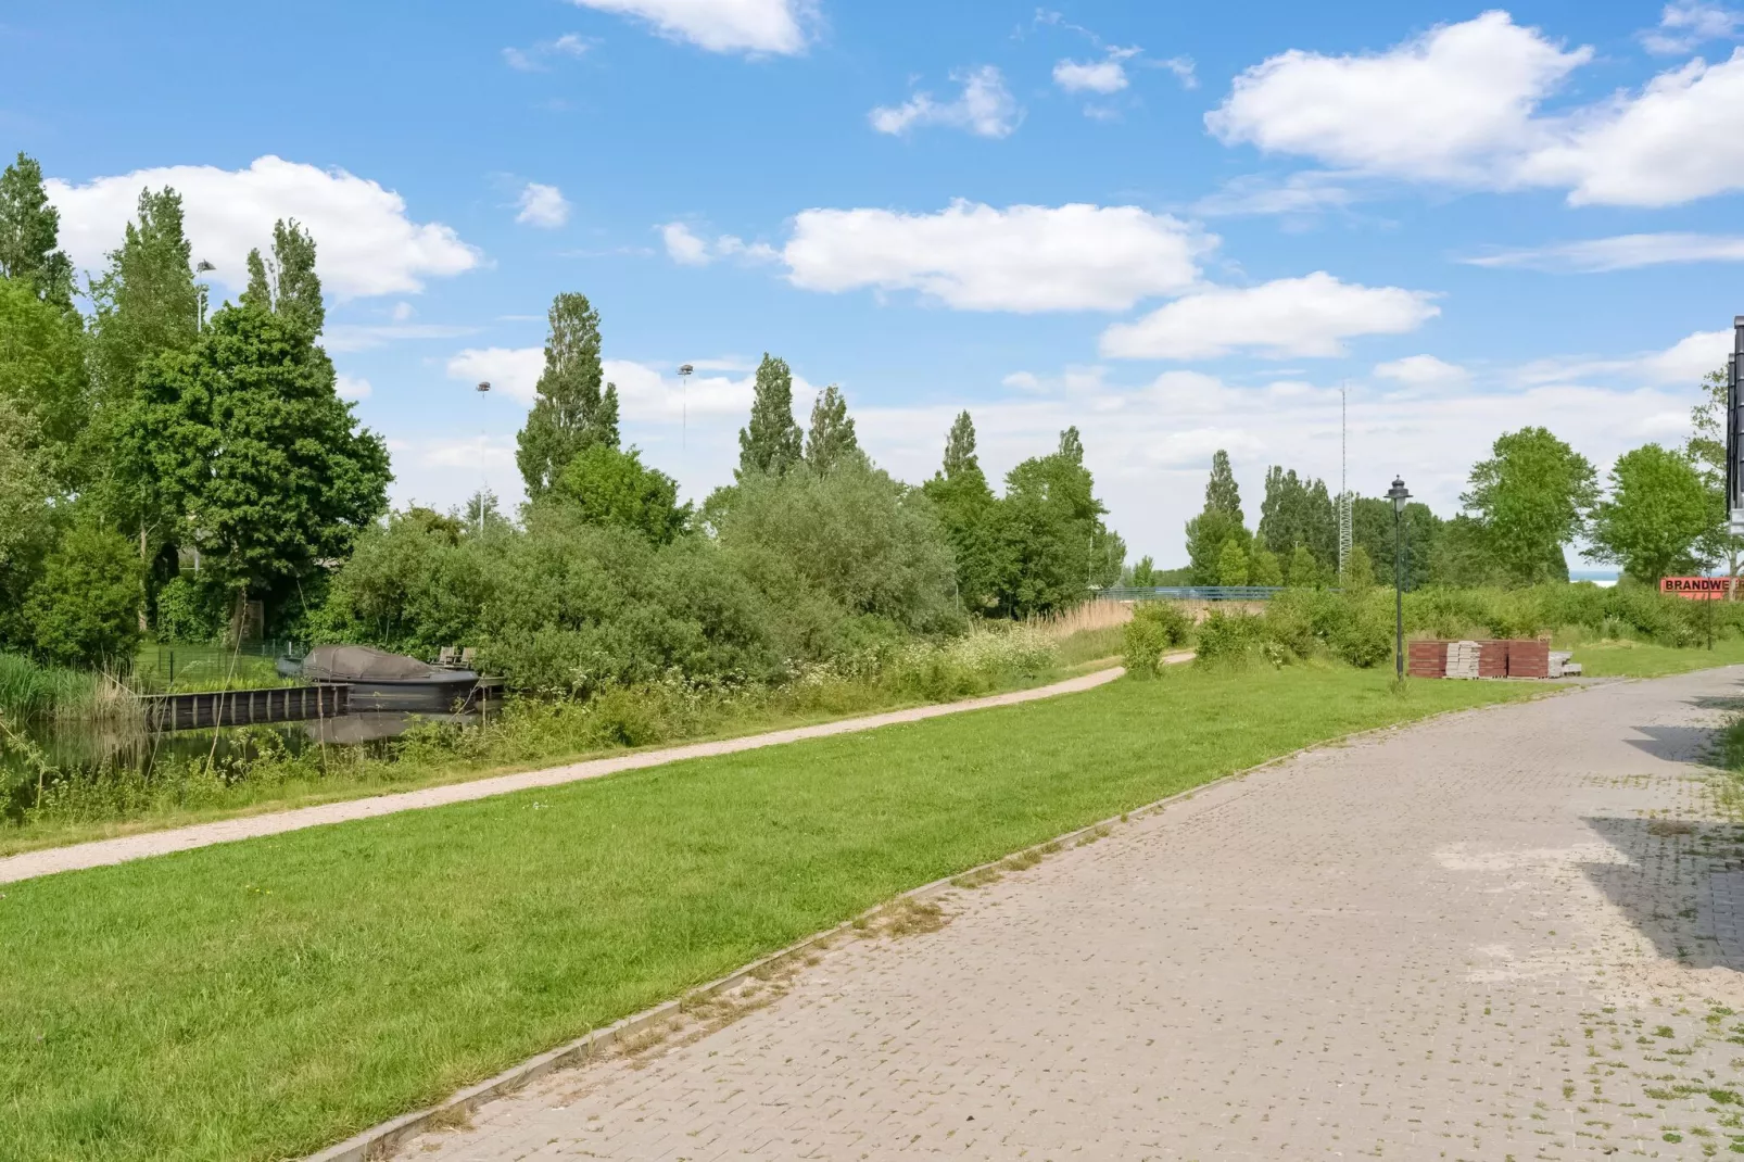
<path fill-rule="evenodd" d="M 781 258 L 806 290 L 916 290 L 959 311 L 1125 311 L 1188 288 L 1216 244 L 1137 206 L 956 201 L 937 215 L 806 209 Z"/>

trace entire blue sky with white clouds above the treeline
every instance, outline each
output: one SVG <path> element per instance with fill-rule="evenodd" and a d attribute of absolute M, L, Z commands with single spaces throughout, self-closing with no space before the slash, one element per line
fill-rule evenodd
<path fill-rule="evenodd" d="M 1078 424 L 1134 555 L 1210 452 L 1444 515 L 1503 429 L 1681 440 L 1744 311 L 1744 17 L 1709 3 L 35 5 L 0 129 L 96 267 L 173 183 L 234 295 L 310 225 L 399 501 L 513 496 L 551 295 L 703 496 L 748 370 L 839 382 L 907 480 Z M 698 372 L 680 391 L 678 363 Z M 480 400 L 473 382 L 497 391 Z"/>

